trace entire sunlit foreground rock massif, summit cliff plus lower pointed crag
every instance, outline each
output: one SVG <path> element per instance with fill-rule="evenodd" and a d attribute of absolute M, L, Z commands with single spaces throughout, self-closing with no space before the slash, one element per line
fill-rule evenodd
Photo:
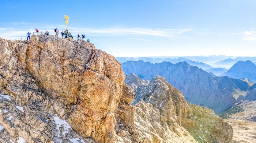
<path fill-rule="evenodd" d="M 135 105 L 124 80 L 121 64 L 84 40 L 0 38 L 0 142 L 233 142 L 229 124 L 163 78 Z"/>

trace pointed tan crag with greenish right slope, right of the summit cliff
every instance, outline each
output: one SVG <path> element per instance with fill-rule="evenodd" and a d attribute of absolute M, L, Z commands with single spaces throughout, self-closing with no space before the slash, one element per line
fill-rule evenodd
<path fill-rule="evenodd" d="M 136 98 L 138 95 L 140 99 Z M 179 90 L 160 76 L 153 78 L 148 86 L 139 87 L 135 91 L 135 100 L 137 100 L 135 103 L 138 103 L 139 100 L 151 103 L 157 109 L 161 118 L 155 123 L 151 119 L 155 130 L 163 132 L 170 128 L 176 132 L 177 126 L 182 126 L 198 142 L 234 142 L 232 140 L 233 130 L 229 124 L 223 122 L 219 116 L 215 115 L 214 111 L 188 103 Z M 139 102 L 135 106 L 141 107 L 142 104 L 144 102 Z M 146 116 L 139 111 L 136 113 L 139 115 L 136 116 L 138 121 L 141 120 L 139 117 Z M 165 134 L 158 135 L 167 138 Z"/>

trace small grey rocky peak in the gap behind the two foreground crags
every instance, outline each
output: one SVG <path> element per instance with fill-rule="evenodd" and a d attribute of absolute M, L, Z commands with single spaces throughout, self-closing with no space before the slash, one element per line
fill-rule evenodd
<path fill-rule="evenodd" d="M 147 86 L 149 84 L 149 81 L 143 80 L 139 78 L 139 76 L 131 73 L 126 76 L 124 83 L 128 84 L 133 90 L 136 90 L 139 86 Z"/>

